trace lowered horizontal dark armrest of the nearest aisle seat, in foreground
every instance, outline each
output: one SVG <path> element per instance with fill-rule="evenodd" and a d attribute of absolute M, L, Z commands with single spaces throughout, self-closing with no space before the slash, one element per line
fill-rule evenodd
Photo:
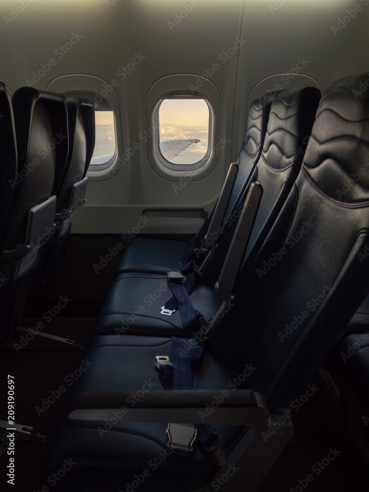
<path fill-rule="evenodd" d="M 136 399 L 132 399 L 132 392 L 125 391 L 79 393 L 68 402 L 68 418 L 104 421 L 109 420 L 114 411 L 125 422 L 251 427 L 266 422 L 269 417 L 263 396 L 253 390 L 159 390 L 149 391 L 141 399 L 136 396 Z M 134 401 L 134 406 L 127 401 Z"/>

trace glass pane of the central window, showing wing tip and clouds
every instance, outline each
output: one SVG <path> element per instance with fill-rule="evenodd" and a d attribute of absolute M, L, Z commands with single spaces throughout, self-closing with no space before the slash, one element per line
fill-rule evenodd
<path fill-rule="evenodd" d="M 210 110 L 205 99 L 162 99 L 158 107 L 158 126 L 159 159 L 162 163 L 163 159 L 175 166 L 201 166 L 204 158 L 207 160 Z"/>

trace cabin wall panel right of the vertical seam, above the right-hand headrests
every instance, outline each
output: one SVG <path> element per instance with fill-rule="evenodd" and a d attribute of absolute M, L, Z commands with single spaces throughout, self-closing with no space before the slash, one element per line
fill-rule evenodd
<path fill-rule="evenodd" d="M 355 5 L 361 11 L 334 33 L 332 26 Z M 282 89 L 291 88 L 285 72 L 296 67 L 298 58 L 309 62 L 299 73 L 312 77 L 322 91 L 340 78 L 369 72 L 368 24 L 368 0 L 246 0 L 242 32 L 247 43 L 238 74 L 234 150 L 243 138 L 245 94 L 273 74 L 280 74 Z M 268 87 L 271 91 L 274 84 Z"/>

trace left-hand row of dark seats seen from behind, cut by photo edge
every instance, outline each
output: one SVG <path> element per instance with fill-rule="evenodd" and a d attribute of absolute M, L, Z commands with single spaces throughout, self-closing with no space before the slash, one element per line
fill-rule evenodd
<path fill-rule="evenodd" d="M 90 101 L 29 87 L 10 101 L 2 83 L 0 113 L 2 340 L 22 321 L 42 249 L 43 279 L 58 271 L 85 201 L 95 124 Z"/>

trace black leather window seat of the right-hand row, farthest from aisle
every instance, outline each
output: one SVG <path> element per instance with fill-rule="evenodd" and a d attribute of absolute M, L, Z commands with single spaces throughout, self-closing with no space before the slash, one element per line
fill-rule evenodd
<path fill-rule="evenodd" d="M 248 109 L 244 142 L 236 159 L 238 173 L 232 194 L 228 203 L 226 216 L 230 215 L 239 202 L 242 192 L 259 159 L 263 147 L 269 112 L 274 97 L 263 96 L 255 99 Z M 211 217 L 205 221 L 196 235 L 197 247 L 209 246 L 204 240 L 208 231 Z M 211 244 L 210 244 L 211 246 Z M 186 242 L 160 239 L 134 239 L 123 252 L 118 273 L 142 272 L 165 274 L 169 270 L 179 270 L 180 261 L 184 255 Z"/>

